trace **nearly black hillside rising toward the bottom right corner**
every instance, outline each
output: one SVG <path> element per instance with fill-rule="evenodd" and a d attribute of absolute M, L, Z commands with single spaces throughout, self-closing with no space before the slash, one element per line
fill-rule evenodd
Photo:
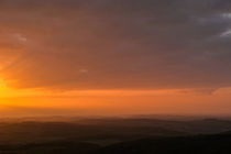
<path fill-rule="evenodd" d="M 110 145 L 98 154 L 230 154 L 231 135 L 143 139 Z"/>

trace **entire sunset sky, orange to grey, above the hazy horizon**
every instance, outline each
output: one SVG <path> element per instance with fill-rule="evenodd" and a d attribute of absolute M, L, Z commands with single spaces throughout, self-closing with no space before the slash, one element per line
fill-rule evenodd
<path fill-rule="evenodd" d="M 0 116 L 230 114 L 230 0 L 1 0 Z"/>

